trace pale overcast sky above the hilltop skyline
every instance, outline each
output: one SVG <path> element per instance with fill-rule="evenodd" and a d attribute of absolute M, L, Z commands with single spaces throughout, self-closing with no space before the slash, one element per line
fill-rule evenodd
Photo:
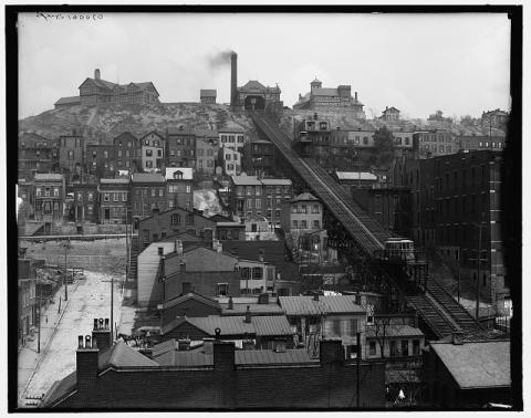
<path fill-rule="evenodd" d="M 77 95 L 95 69 L 121 84 L 152 81 L 162 102 L 199 102 L 200 88 L 216 88 L 228 103 L 230 66 L 216 58 L 231 50 L 239 86 L 278 83 L 290 107 L 315 76 L 352 85 L 369 118 L 386 106 L 412 118 L 510 107 L 510 21 L 499 13 L 22 13 L 19 117 Z"/>

